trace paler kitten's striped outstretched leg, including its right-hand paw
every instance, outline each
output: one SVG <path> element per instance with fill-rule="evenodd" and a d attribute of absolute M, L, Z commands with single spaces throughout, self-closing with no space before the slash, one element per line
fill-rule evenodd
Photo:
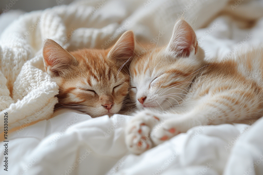
<path fill-rule="evenodd" d="M 163 114 L 164 117 L 169 118 L 156 132 L 153 132 L 151 140 L 158 145 L 179 132 L 186 132 L 199 125 L 251 122 L 252 119 L 262 116 L 261 99 L 251 91 L 251 89 L 247 91 L 238 89 L 205 96 L 193 110 L 186 112 L 180 118 L 172 117 L 176 114 Z"/>

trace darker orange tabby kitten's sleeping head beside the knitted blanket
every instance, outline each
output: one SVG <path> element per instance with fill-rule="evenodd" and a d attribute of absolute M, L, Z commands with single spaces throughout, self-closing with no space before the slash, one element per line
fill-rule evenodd
<path fill-rule="evenodd" d="M 134 35 L 125 32 L 107 50 L 81 49 L 67 52 L 47 39 L 43 59 L 47 73 L 59 86 L 59 104 L 92 117 L 118 113 L 129 93 L 124 64 L 132 59 Z"/>

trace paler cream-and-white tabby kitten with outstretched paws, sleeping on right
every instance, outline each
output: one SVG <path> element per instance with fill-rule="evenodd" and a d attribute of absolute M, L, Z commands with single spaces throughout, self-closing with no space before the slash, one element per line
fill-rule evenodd
<path fill-rule="evenodd" d="M 194 126 L 262 116 L 263 48 L 218 62 L 204 57 L 194 30 L 180 19 L 167 46 L 133 60 L 130 96 L 143 110 L 126 128 L 131 152 L 141 153 Z"/>

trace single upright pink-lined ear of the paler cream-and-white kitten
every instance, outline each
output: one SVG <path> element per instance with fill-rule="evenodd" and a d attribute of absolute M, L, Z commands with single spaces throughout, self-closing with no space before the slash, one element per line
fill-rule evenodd
<path fill-rule="evenodd" d="M 174 25 L 173 35 L 167 49 L 181 57 L 188 57 L 191 51 L 197 52 L 198 44 L 195 31 L 185 20 L 180 19 Z"/>

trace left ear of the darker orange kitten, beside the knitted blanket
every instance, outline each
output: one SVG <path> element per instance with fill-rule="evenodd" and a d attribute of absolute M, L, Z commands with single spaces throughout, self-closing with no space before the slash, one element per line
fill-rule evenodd
<path fill-rule="evenodd" d="M 78 61 L 69 52 L 51 39 L 44 42 L 43 59 L 45 69 L 51 76 L 65 76 L 72 70 L 72 66 L 78 65 Z"/>

